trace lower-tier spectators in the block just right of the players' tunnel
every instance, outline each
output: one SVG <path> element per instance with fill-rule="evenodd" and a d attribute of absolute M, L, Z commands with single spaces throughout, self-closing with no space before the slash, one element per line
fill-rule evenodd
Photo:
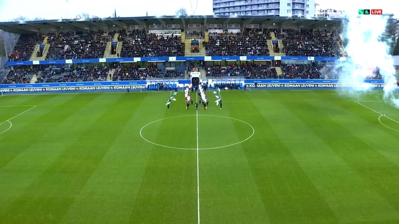
<path fill-rule="evenodd" d="M 212 77 L 238 77 L 246 79 L 277 79 L 274 67 L 268 65 L 245 63 L 241 65 L 231 64 L 227 66 L 213 65 L 205 68 L 206 76 Z"/>

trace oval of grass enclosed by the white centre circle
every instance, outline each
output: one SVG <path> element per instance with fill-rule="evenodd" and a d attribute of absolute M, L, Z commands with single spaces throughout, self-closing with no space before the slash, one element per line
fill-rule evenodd
<path fill-rule="evenodd" d="M 149 143 L 175 149 L 197 149 L 197 117 L 167 117 L 145 125 L 140 135 Z M 253 127 L 235 118 L 198 115 L 199 149 L 237 145 L 254 134 Z"/>

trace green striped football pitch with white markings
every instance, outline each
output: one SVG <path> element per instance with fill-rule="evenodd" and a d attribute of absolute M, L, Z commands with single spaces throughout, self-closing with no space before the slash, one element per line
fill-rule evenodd
<path fill-rule="evenodd" d="M 0 97 L 0 223 L 398 224 L 399 110 L 341 93 Z"/>

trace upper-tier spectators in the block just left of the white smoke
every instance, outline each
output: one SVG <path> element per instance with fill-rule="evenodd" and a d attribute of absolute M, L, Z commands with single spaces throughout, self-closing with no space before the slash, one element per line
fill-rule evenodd
<path fill-rule="evenodd" d="M 282 37 L 284 48 L 281 53 L 287 56 L 340 57 L 336 36 L 327 30 L 284 29 Z"/>

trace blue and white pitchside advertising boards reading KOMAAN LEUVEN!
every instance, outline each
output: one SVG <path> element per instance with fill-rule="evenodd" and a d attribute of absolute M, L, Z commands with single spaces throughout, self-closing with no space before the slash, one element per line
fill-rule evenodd
<path fill-rule="evenodd" d="M 236 80 L 235 80 L 236 81 Z M 153 82 L 176 82 L 180 85 L 190 83 L 189 80 L 157 80 Z M 152 81 L 121 81 L 121 82 L 81 82 L 81 83 L 37 83 L 37 84 L 4 84 L 0 85 L 0 92 L 4 94 L 22 93 L 70 93 L 70 92 L 112 92 L 126 91 L 126 89 L 143 91 L 147 90 Z M 218 83 L 217 80 L 213 80 Z M 242 83 L 242 81 L 238 81 Z M 331 89 L 350 90 L 354 88 L 382 89 L 385 87 L 383 80 L 365 80 L 364 83 L 348 83 L 343 80 L 306 80 L 306 79 L 257 79 L 245 80 L 246 87 L 278 89 Z M 255 86 L 256 84 L 256 86 Z"/>

